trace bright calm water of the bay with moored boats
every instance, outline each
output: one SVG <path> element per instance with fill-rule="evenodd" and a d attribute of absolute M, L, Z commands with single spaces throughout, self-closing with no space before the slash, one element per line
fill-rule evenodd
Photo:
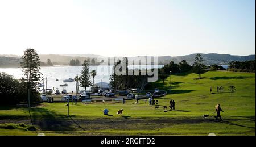
<path fill-rule="evenodd" d="M 163 65 L 147 66 L 148 69 L 151 68 L 161 68 Z M 99 65 L 99 66 L 90 66 L 91 70 L 96 70 L 97 75 L 94 78 L 94 83 L 98 82 L 109 82 L 110 74 L 112 73 L 112 67 L 108 65 Z M 146 68 L 146 65 L 134 65 L 129 66 L 129 69 L 135 68 Z M 43 78 L 47 77 L 47 89 L 58 88 L 59 90 L 67 89 L 67 91 L 76 91 L 76 82 L 63 82 L 64 79 L 74 78 L 77 74 L 80 75 L 82 66 L 51 66 L 51 67 L 42 67 L 41 72 Z M 7 74 L 13 75 L 15 78 L 23 77 L 22 69 L 20 68 L 0 68 L 0 72 L 5 72 Z M 56 81 L 59 79 L 59 81 Z M 42 81 L 43 82 L 43 81 Z M 44 80 L 44 84 L 46 80 Z M 67 83 L 67 87 L 60 87 L 60 84 Z M 88 88 L 89 90 L 90 88 Z M 80 88 L 84 90 L 84 88 Z"/>

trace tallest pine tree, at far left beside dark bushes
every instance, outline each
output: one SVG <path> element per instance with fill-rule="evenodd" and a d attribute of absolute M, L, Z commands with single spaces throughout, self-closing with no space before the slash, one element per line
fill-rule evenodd
<path fill-rule="evenodd" d="M 30 93 L 38 93 L 39 80 L 42 75 L 40 72 L 39 56 L 35 49 L 29 48 L 24 51 L 20 66 L 22 67 L 23 75 L 26 77 L 24 79 L 27 82 L 28 108 L 30 108 L 30 101 L 35 102 L 36 98 L 38 98 L 38 96 L 32 96 L 30 99 Z"/>

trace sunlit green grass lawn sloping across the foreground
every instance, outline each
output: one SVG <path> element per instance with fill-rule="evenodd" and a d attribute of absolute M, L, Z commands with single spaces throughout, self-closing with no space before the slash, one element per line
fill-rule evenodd
<path fill-rule="evenodd" d="M 1 125 L 31 124 L 27 108 L 0 107 L 0 135 L 255 135 L 255 73 L 210 71 L 202 74 L 172 74 L 163 84 L 151 83 L 151 87 L 170 90 L 171 94 L 159 101 L 159 108 L 145 104 L 144 100 L 120 102 L 93 102 L 70 104 L 67 117 L 66 103 L 42 103 L 31 108 L 36 131 L 16 127 L 7 129 Z M 228 86 L 236 86 L 231 96 Z M 223 93 L 217 92 L 223 86 Z M 213 93 L 210 94 L 210 87 Z M 176 110 L 164 112 L 175 100 Z M 222 121 L 215 121 L 216 104 L 221 104 Z M 109 116 L 102 111 L 107 107 Z M 123 108 L 123 115 L 117 111 Z M 202 119 L 208 114 L 208 119 Z"/>

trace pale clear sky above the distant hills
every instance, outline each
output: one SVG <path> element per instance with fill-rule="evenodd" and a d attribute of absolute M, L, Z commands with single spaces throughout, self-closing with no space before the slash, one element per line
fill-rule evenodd
<path fill-rule="evenodd" d="M 0 54 L 255 54 L 255 0 L 0 0 Z"/>

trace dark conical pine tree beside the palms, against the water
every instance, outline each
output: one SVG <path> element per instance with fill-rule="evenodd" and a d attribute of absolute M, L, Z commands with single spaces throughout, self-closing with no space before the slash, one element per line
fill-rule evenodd
<path fill-rule="evenodd" d="M 84 87 L 86 90 L 86 87 L 89 87 L 92 85 L 92 81 L 90 81 L 90 66 L 88 62 L 85 60 L 84 64 L 82 64 L 82 72 L 80 75 L 80 86 Z"/>

